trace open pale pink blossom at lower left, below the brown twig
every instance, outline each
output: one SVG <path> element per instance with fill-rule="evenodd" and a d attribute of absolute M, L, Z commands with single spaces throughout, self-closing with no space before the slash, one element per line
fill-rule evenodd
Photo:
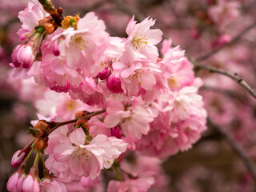
<path fill-rule="evenodd" d="M 114 158 L 118 158 L 126 150 L 126 143 L 121 139 L 98 134 L 86 144 L 86 135 L 82 129 L 74 130 L 69 138 L 54 147 L 54 159 L 62 166 L 68 166 L 74 177 L 86 176 L 94 179 L 100 171 L 110 168 Z"/>

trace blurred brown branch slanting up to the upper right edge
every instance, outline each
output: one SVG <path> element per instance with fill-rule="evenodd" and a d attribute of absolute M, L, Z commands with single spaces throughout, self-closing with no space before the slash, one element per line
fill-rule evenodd
<path fill-rule="evenodd" d="M 254 27 L 256 26 L 256 22 L 254 22 L 253 24 L 251 24 L 250 26 L 246 27 L 245 30 L 242 30 L 241 33 L 237 34 L 230 42 L 226 43 L 223 46 L 219 46 L 218 48 L 210 51 L 208 54 L 203 55 L 202 57 L 199 57 L 196 59 L 197 62 L 202 62 L 204 60 L 206 60 L 207 58 L 210 58 L 211 56 L 213 56 L 214 54 L 217 54 L 220 50 L 222 50 L 223 48 L 225 48 L 226 46 L 230 46 L 231 44 L 233 44 L 234 42 L 237 42 L 240 38 L 242 38 L 242 36 L 244 36 L 245 34 L 247 34 L 250 30 L 252 30 Z"/>

